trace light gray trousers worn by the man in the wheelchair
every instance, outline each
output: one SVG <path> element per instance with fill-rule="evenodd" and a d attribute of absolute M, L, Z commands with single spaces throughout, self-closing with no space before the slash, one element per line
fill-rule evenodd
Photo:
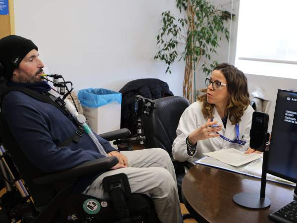
<path fill-rule="evenodd" d="M 83 193 L 106 199 L 102 179 L 123 172 L 132 193 L 146 194 L 152 199 L 162 223 L 181 223 L 175 171 L 168 153 L 159 148 L 121 153 L 128 158 L 128 167 L 104 172 Z"/>

